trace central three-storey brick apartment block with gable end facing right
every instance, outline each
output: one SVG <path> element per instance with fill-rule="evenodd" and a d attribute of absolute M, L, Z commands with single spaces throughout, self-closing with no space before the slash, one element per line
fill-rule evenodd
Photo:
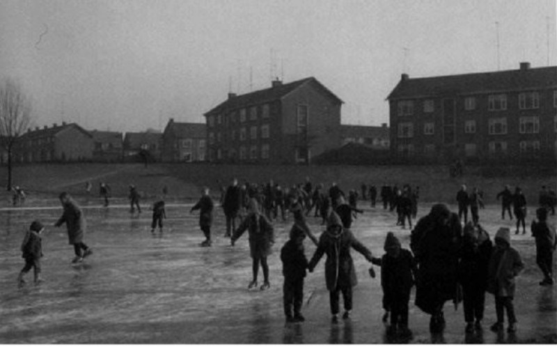
<path fill-rule="evenodd" d="M 310 163 L 340 146 L 343 101 L 314 77 L 235 95 L 205 114 L 209 160 Z"/>

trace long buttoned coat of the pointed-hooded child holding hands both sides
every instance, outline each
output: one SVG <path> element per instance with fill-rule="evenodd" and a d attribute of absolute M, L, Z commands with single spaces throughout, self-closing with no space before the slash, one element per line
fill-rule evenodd
<path fill-rule="evenodd" d="M 363 254 L 369 261 L 372 256 L 369 249 L 356 240 L 354 234 L 350 230 L 343 229 L 339 234 L 325 231 L 321 234 L 315 254 L 311 258 L 308 268 L 313 269 L 320 261 L 323 254 L 327 254 L 325 262 L 325 281 L 327 282 L 327 290 L 334 291 L 336 288 L 346 286 L 356 286 L 356 271 L 354 270 L 354 261 L 350 255 L 350 248 L 354 248 L 356 252 Z"/>

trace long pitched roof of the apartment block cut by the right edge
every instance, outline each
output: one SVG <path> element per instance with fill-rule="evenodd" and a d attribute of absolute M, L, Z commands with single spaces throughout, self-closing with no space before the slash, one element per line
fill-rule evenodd
<path fill-rule="evenodd" d="M 520 91 L 555 86 L 557 86 L 557 66 L 549 66 L 466 75 L 402 78 L 387 99 Z"/>

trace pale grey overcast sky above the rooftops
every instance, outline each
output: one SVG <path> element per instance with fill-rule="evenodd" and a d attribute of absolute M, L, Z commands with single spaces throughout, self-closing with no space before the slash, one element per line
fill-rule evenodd
<path fill-rule="evenodd" d="M 0 77 L 32 96 L 38 126 L 201 122 L 230 86 L 270 86 L 271 70 L 319 79 L 345 101 L 343 123 L 379 125 L 402 72 L 497 70 L 495 22 L 501 70 L 548 52 L 556 65 L 555 0 L 0 0 Z"/>

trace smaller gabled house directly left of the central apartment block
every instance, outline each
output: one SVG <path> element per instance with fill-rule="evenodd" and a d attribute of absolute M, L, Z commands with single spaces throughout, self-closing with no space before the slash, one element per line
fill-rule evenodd
<path fill-rule="evenodd" d="M 162 160 L 203 162 L 207 153 L 204 123 L 178 123 L 171 118 L 163 132 Z"/>

